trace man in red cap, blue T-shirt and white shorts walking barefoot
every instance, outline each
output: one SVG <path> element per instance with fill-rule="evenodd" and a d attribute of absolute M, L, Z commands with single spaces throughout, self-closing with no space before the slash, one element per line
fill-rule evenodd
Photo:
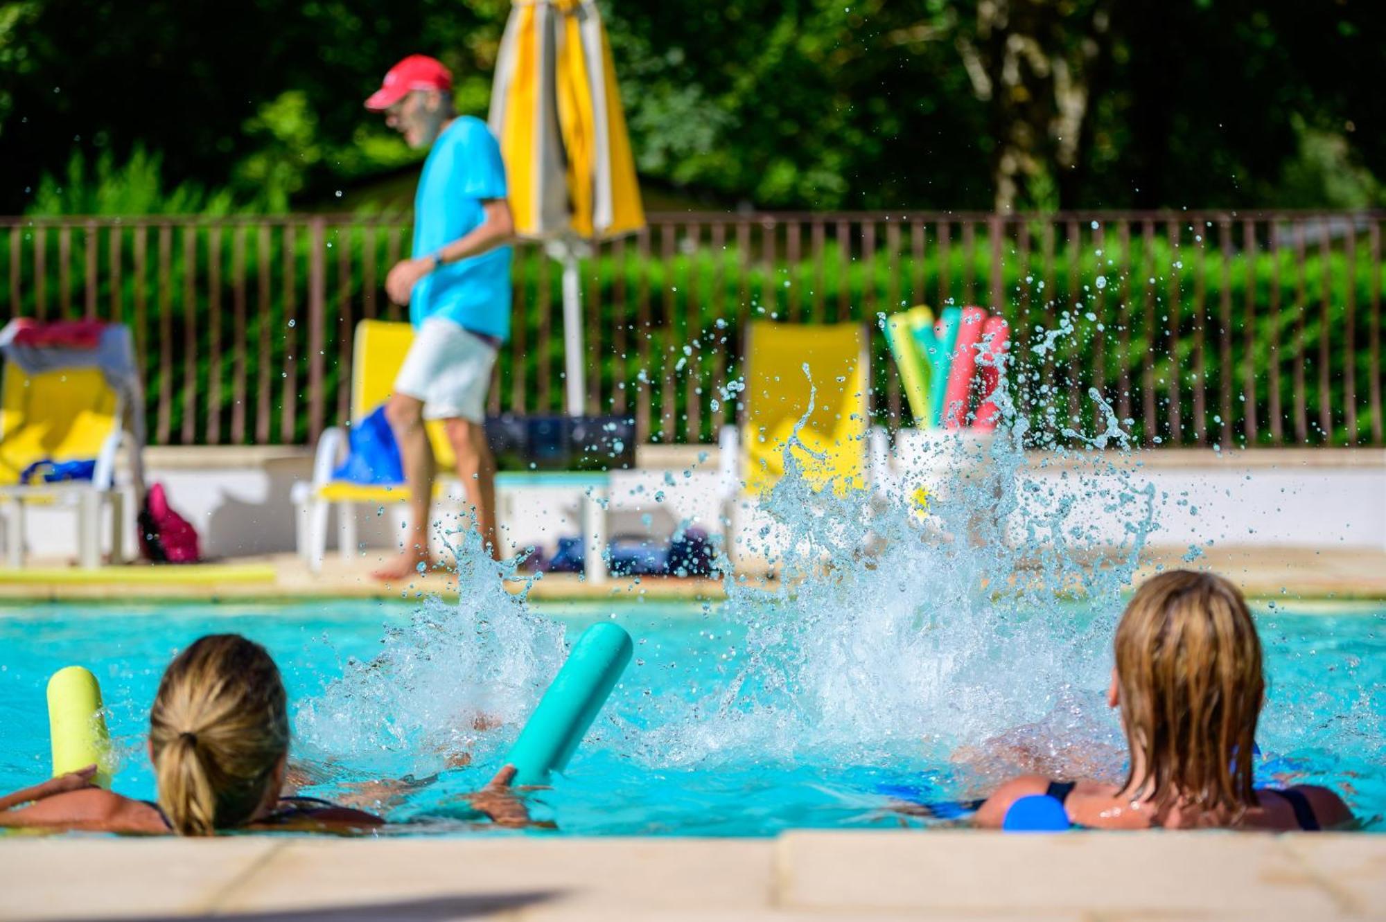
<path fill-rule="evenodd" d="M 496 349 L 510 335 L 510 246 L 500 147 L 486 123 L 457 116 L 452 73 L 414 54 L 389 69 L 366 108 L 410 147 L 430 148 L 414 195 L 412 257 L 385 278 L 385 293 L 409 305 L 414 342 L 395 379 L 385 417 L 409 485 L 409 532 L 398 561 L 374 573 L 399 580 L 428 563 L 437 461 L 426 419 L 442 419 L 457 478 L 482 541 L 498 554 L 495 458 L 486 446 L 485 403 Z"/>

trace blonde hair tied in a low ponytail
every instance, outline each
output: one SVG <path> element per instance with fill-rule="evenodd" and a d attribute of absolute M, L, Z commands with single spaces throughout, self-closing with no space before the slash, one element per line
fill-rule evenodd
<path fill-rule="evenodd" d="M 245 822 L 288 753 L 274 660 L 237 634 L 198 640 L 164 671 L 150 743 L 159 806 L 175 832 L 209 836 Z"/>

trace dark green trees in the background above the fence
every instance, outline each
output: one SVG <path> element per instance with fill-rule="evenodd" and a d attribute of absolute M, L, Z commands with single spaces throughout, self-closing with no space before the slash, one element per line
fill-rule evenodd
<path fill-rule="evenodd" d="M 760 208 L 1369 206 L 1380 3 L 604 0 L 647 184 Z M 419 158 L 362 100 L 441 57 L 484 115 L 507 0 L 0 0 L 0 210 L 136 148 L 334 206 Z M 1008 191 L 1009 187 L 1013 187 Z"/>

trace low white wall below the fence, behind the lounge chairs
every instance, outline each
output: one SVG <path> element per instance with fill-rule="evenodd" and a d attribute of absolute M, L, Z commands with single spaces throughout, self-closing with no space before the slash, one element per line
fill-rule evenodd
<path fill-rule="evenodd" d="M 644 453 L 643 464 L 668 469 L 617 472 L 611 478 L 608 534 L 665 536 L 689 521 L 721 532 L 717 453 L 697 462 L 689 453 L 660 457 Z M 1130 483 L 1153 483 L 1163 494 L 1159 527 L 1150 544 L 1220 544 L 1386 550 L 1386 451 L 1264 450 L 1246 453 L 1166 450 L 1137 455 Z M 901 446 L 897 462 L 911 461 Z M 306 479 L 308 453 L 295 449 L 154 449 L 147 455 L 148 479 L 161 482 L 173 507 L 198 529 L 209 558 L 274 554 L 294 550 L 290 489 Z M 1070 475 L 1066 479 L 1064 471 Z M 685 475 L 687 471 L 687 475 Z M 1094 486 L 1052 457 L 1031 458 L 1026 478 L 1052 489 L 1056 497 L 1081 496 Z M 1099 478 L 1100 479 L 1100 478 Z M 1100 487 L 1100 485 L 1099 485 Z M 577 534 L 577 496 L 535 490 L 511 497 L 502 522 L 513 545 L 542 544 L 550 550 L 560 534 Z M 359 540 L 388 547 L 396 539 L 402 507 L 383 515 L 360 509 Z M 649 516 L 649 519 L 646 519 Z M 1094 521 L 1120 539 L 1120 516 Z M 8 529 L 6 527 L 6 540 Z M 133 548 L 133 529 L 128 548 Z M 29 552 L 44 558 L 75 555 L 75 518 L 35 508 L 29 516 Z"/>

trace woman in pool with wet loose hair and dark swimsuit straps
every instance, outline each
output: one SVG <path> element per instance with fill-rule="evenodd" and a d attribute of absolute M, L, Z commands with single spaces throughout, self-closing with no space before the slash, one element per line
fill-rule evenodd
<path fill-rule="evenodd" d="M 1107 703 L 1130 748 L 1124 784 L 1021 775 L 977 811 L 1001 826 L 1020 797 L 1051 795 L 1081 826 L 1326 829 L 1351 822 L 1326 788 L 1252 786 L 1252 748 L 1265 694 L 1261 642 L 1246 601 L 1211 573 L 1146 580 L 1116 635 Z"/>

